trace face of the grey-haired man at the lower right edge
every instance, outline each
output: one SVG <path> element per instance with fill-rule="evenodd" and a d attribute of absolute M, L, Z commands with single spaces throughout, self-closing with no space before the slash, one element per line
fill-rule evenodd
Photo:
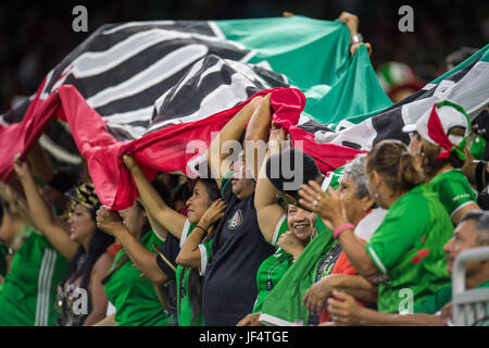
<path fill-rule="evenodd" d="M 450 274 L 453 271 L 453 263 L 455 258 L 464 250 L 478 247 L 476 240 L 477 235 L 474 232 L 476 222 L 474 220 L 466 220 L 461 222 L 453 234 L 453 237 L 447 241 L 443 246 L 446 254 L 448 271 Z M 466 275 L 471 275 L 477 272 L 480 266 L 480 262 L 468 262 L 466 265 Z"/>

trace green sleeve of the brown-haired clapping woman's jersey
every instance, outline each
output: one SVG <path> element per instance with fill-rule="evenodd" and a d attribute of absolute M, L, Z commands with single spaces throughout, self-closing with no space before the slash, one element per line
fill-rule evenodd
<path fill-rule="evenodd" d="M 413 247 L 429 222 L 428 204 L 423 196 L 401 197 L 399 200 L 365 245 L 372 261 L 384 274 Z"/>

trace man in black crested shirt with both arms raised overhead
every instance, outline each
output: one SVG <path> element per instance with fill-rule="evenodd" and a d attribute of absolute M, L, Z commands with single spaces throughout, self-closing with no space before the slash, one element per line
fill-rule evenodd
<path fill-rule="evenodd" d="M 202 308 L 209 326 L 236 325 L 251 312 L 258 295 L 256 271 L 275 251 L 260 232 L 254 208 L 253 175 L 258 175 L 259 164 L 247 163 L 246 148 L 230 166 L 223 163 L 227 153 L 221 153 L 225 141 L 242 137 L 248 121 L 244 147 L 253 141 L 266 142 L 269 114 L 269 96 L 254 98 L 226 124 L 208 152 L 209 166 L 227 203 L 214 232 L 203 283 Z M 226 175 L 227 169 L 231 171 Z"/>

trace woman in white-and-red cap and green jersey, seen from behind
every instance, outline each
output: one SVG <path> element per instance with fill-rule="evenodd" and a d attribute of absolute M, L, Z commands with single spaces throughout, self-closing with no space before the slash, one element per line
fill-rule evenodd
<path fill-rule="evenodd" d="M 461 171 L 471 133 L 471 120 L 465 110 L 444 100 L 403 130 L 414 133 L 410 150 L 418 157 L 426 182 L 440 196 L 453 224 L 457 225 L 466 212 L 480 210 L 476 194 Z"/>

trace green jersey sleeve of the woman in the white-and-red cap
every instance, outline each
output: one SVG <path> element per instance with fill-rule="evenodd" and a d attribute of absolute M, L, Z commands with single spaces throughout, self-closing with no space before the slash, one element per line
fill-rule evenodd
<path fill-rule="evenodd" d="M 459 169 L 436 175 L 429 186 L 438 192 L 450 217 L 466 204 L 476 203 L 476 194 Z"/>

